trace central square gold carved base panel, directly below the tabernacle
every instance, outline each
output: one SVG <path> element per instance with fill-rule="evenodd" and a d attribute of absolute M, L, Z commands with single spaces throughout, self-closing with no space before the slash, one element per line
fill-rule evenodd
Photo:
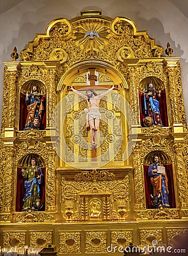
<path fill-rule="evenodd" d="M 86 253 L 106 253 L 106 231 L 86 231 L 85 239 Z"/>

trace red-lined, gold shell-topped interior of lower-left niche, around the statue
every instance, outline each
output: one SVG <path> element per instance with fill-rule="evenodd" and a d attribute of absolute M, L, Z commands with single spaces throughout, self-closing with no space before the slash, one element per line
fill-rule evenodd
<path fill-rule="evenodd" d="M 17 167 L 17 178 L 16 178 L 16 207 L 15 210 L 16 212 L 21 212 L 22 211 L 22 207 L 23 207 L 23 197 L 24 197 L 24 193 L 26 191 L 26 189 L 24 188 L 24 181 L 26 179 L 24 179 L 24 177 L 22 176 L 22 168 L 24 168 L 26 170 L 26 168 L 28 166 L 31 166 L 31 159 L 36 159 L 36 166 L 40 166 L 42 172 L 43 172 L 43 183 L 40 186 L 41 189 L 41 203 L 43 205 L 45 205 L 45 173 L 46 173 L 46 168 L 45 168 L 45 162 L 44 159 L 38 155 L 38 154 L 27 154 L 22 156 L 22 158 L 19 160 L 18 162 L 18 167 Z M 42 209 L 40 210 L 44 210 L 45 207 L 43 206 Z"/>

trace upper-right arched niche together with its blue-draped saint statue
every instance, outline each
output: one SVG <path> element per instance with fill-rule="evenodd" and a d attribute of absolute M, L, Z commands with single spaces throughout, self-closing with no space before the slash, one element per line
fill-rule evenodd
<path fill-rule="evenodd" d="M 140 122 L 142 127 L 168 126 L 166 92 L 157 77 L 145 77 L 139 85 Z"/>

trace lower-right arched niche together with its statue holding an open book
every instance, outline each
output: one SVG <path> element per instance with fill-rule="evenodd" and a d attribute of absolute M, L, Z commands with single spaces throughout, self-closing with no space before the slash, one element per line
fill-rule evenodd
<path fill-rule="evenodd" d="M 168 155 L 156 150 L 145 156 L 144 180 L 147 209 L 176 208 L 173 167 Z"/>

